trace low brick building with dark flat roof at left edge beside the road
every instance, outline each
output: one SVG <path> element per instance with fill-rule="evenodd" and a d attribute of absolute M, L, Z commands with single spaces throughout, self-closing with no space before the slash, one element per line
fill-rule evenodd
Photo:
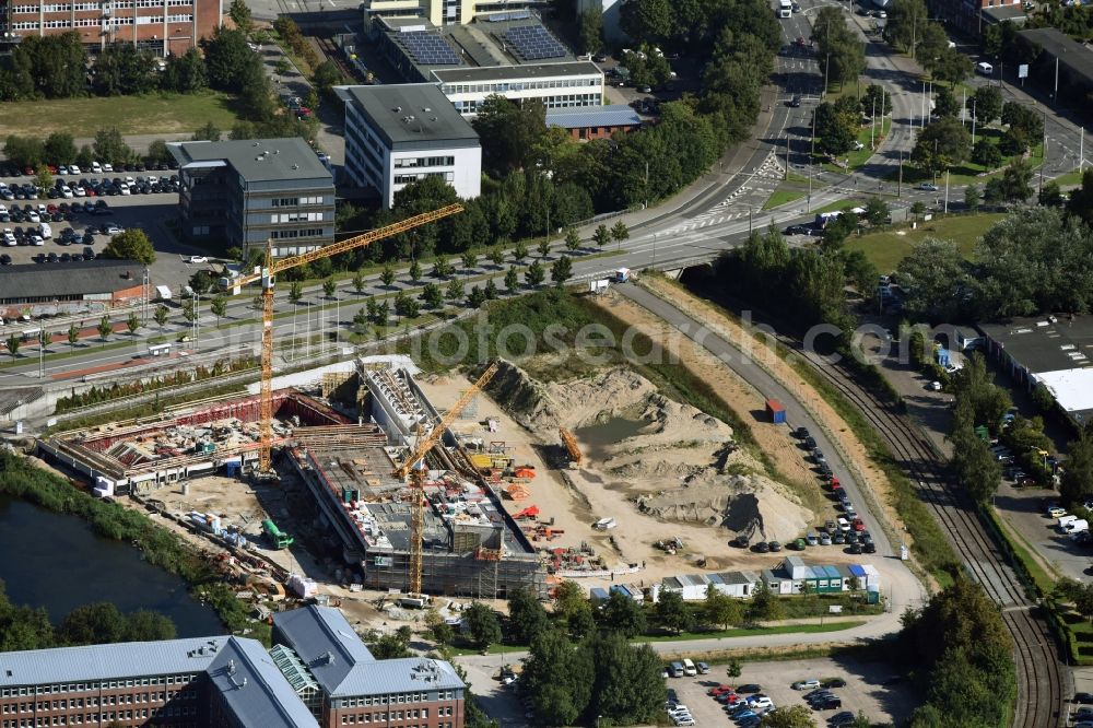
<path fill-rule="evenodd" d="M 74 301 L 111 305 L 140 300 L 146 266 L 136 260 L 80 260 L 0 268 L 0 306 Z"/>

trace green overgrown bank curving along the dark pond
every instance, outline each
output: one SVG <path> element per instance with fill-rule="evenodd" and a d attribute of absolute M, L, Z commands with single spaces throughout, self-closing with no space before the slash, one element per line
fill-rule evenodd
<path fill-rule="evenodd" d="M 269 644 L 269 626 L 250 620 L 247 604 L 236 598 L 215 565 L 143 514 L 94 498 L 30 458 L 12 453 L 0 453 L 0 494 L 78 516 L 98 536 L 131 543 L 145 562 L 186 582 L 190 594 L 208 603 L 228 632 Z"/>

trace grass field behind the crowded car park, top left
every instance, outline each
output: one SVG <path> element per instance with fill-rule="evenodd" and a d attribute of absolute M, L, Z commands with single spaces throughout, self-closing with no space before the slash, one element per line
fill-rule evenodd
<path fill-rule="evenodd" d="M 0 137 L 67 131 L 84 138 L 106 127 L 117 127 L 124 134 L 187 133 L 208 121 L 226 131 L 237 118 L 235 99 L 214 91 L 55 98 L 0 105 Z"/>

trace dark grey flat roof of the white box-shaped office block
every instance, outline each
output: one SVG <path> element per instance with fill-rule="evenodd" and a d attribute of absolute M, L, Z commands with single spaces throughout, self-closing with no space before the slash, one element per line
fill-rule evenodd
<path fill-rule="evenodd" d="M 338 95 L 353 104 L 373 130 L 390 146 L 438 142 L 478 146 L 473 127 L 433 83 L 338 86 Z"/>

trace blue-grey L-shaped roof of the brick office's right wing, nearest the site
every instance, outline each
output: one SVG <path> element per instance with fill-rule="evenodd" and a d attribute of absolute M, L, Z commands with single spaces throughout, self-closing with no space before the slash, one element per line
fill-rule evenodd
<path fill-rule="evenodd" d="M 273 624 L 331 697 L 463 688 L 448 662 L 377 661 L 337 609 L 312 604 L 274 614 Z"/>

